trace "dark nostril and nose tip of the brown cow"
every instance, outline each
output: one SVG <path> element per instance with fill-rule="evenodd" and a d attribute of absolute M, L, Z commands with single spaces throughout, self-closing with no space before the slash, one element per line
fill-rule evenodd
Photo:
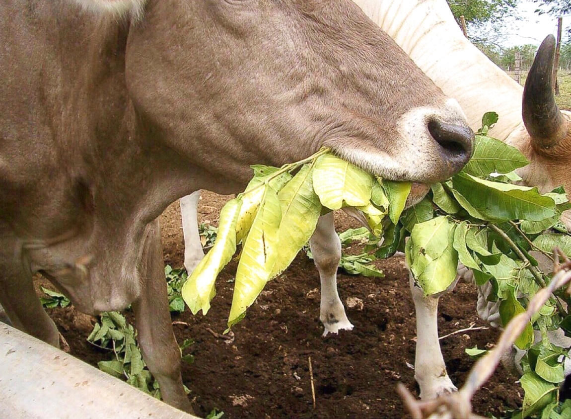
<path fill-rule="evenodd" d="M 474 151 L 474 133 L 468 126 L 431 119 L 428 132 L 453 165 L 464 166 L 468 163 Z"/>

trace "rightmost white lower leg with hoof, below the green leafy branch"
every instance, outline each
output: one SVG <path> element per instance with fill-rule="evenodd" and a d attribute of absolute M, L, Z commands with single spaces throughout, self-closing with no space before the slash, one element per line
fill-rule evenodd
<path fill-rule="evenodd" d="M 415 380 L 420 386 L 420 398 L 428 400 L 457 390 L 448 377 L 438 340 L 439 297 L 424 298 L 410 275 L 412 300 L 416 310 Z M 451 289 L 456 285 L 452 284 Z"/>

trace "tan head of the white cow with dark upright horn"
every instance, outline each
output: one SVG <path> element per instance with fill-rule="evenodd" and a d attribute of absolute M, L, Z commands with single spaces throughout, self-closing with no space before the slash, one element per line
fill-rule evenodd
<path fill-rule="evenodd" d="M 541 43 L 525 81 L 522 116 L 524 127 L 514 131 L 506 142 L 516 146 L 530 161 L 518 172 L 527 185 L 542 193 L 563 185 L 571 191 L 571 112 L 560 111 L 553 96 L 555 38 Z M 571 228 L 571 212 L 563 220 Z"/>

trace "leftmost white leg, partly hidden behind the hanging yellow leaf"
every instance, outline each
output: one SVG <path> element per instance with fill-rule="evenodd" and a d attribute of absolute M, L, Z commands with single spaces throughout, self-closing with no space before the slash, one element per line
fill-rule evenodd
<path fill-rule="evenodd" d="M 190 274 L 198 262 L 204 257 L 198 231 L 198 200 L 200 191 L 197 190 L 179 199 L 182 232 L 184 236 L 184 268 Z"/>

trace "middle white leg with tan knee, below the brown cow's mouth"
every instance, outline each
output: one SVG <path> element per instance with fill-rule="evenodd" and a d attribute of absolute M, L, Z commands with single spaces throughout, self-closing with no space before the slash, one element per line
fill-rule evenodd
<path fill-rule="evenodd" d="M 337 267 L 341 260 L 341 241 L 335 232 L 333 213 L 319 217 L 317 228 L 309 239 L 313 261 L 321 280 L 320 320 L 325 326 L 323 336 L 339 330 L 351 330 L 345 308 L 337 293 Z"/>

